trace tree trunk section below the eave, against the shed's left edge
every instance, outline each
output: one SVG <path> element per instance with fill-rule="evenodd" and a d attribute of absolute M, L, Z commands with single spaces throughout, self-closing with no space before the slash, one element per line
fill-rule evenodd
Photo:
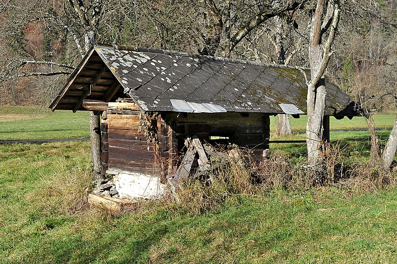
<path fill-rule="evenodd" d="M 90 135 L 91 135 L 91 160 L 95 180 L 100 180 L 101 175 L 101 119 L 90 111 Z"/>

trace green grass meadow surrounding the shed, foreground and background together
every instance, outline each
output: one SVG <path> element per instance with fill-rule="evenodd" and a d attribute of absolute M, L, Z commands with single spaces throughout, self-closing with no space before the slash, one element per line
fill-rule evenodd
<path fill-rule="evenodd" d="M 303 117 L 291 121 L 293 130 L 304 128 Z M 355 127 L 365 127 L 358 118 L 352 121 Z M 352 121 L 331 120 L 331 129 L 352 128 Z M 394 116 L 379 116 L 375 122 L 390 128 Z M 85 113 L 0 109 L 0 139 L 86 137 L 87 126 Z M 389 131 L 379 132 L 385 138 Z M 331 140 L 349 155 L 368 155 L 368 132 L 331 132 Z M 305 155 L 304 144 L 272 148 L 290 156 Z M 397 259 L 395 187 L 264 190 L 255 196 L 230 196 L 200 213 L 175 203 L 145 201 L 112 215 L 85 203 L 92 188 L 88 141 L 0 145 L 0 187 L 0 263 Z"/>

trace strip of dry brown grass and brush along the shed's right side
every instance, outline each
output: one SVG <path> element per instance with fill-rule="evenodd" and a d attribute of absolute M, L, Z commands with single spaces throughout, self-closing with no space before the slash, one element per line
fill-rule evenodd
<path fill-rule="evenodd" d="M 397 172 L 385 173 L 380 167 L 362 163 L 349 156 L 340 144 L 328 145 L 320 167 L 301 158 L 273 153 L 269 160 L 255 162 L 247 149 L 234 147 L 223 151 L 228 158 L 211 160 L 212 171 L 206 177 L 191 180 L 177 199 L 167 199 L 166 206 L 200 214 L 246 195 L 263 195 L 274 189 L 309 190 L 313 187 L 338 187 L 349 191 L 376 191 L 396 186 Z"/>

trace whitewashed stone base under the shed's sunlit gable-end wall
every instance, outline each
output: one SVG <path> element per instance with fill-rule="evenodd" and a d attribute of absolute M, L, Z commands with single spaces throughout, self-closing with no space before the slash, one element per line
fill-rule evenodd
<path fill-rule="evenodd" d="M 167 185 L 160 182 L 160 177 L 122 170 L 108 170 L 106 173 L 114 175 L 113 182 L 120 199 L 159 199 L 167 189 Z"/>

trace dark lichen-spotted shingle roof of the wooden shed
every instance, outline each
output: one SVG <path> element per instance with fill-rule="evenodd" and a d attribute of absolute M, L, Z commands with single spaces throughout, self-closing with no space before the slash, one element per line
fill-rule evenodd
<path fill-rule="evenodd" d="M 107 66 L 102 71 L 108 75 L 112 72 L 124 93 L 144 111 L 306 113 L 305 74 L 310 78 L 307 68 L 163 50 L 96 46 L 86 56 L 86 63 L 80 65 L 80 73 L 75 73 L 74 80 L 73 76 L 69 78 L 69 86 L 79 81 L 78 76 L 84 68 L 98 63 L 98 59 L 90 60 L 93 56 L 100 57 Z M 100 80 L 95 85 L 103 86 L 105 82 L 106 79 Z M 106 85 L 110 87 L 112 84 L 110 81 L 105 84 L 104 92 Z M 94 92 L 95 88 L 90 87 Z M 58 105 L 62 108 L 62 99 L 68 96 L 68 89 L 66 85 L 60 92 L 52 104 L 53 109 L 58 109 Z M 326 89 L 326 115 L 357 115 L 354 103 L 346 93 L 328 80 Z M 90 95 L 85 99 L 95 99 Z M 103 98 L 104 94 L 101 96 Z"/>

